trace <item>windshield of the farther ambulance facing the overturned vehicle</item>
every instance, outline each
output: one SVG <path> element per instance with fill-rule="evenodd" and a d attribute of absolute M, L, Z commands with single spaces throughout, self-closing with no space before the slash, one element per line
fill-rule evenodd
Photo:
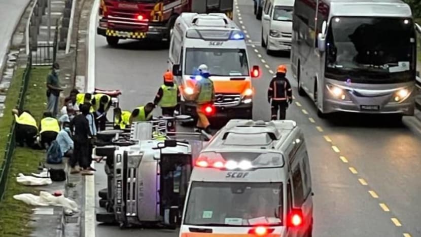
<path fill-rule="evenodd" d="M 249 62 L 245 49 L 186 49 L 185 74 L 199 74 L 197 68 L 206 64 L 211 75 L 248 76 Z"/>

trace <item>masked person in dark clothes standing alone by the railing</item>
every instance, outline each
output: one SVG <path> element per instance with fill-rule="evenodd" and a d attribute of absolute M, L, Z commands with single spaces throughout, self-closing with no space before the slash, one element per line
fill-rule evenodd
<path fill-rule="evenodd" d="M 60 98 L 60 92 L 63 91 L 60 88 L 59 73 L 60 65 L 54 63 L 51 73 L 47 76 L 47 111 L 53 113 L 53 116 L 58 114 L 58 98 Z"/>

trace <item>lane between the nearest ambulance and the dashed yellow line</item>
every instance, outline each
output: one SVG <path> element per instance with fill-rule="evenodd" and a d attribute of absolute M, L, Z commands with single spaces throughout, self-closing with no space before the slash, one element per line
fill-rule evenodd
<path fill-rule="evenodd" d="M 256 54 L 249 55 L 252 62 Z M 268 69 L 262 78 L 270 78 Z M 288 72 L 290 76 L 291 72 Z M 266 99 L 266 79 L 254 81 L 256 88 L 254 119 L 268 120 L 270 107 Z M 310 119 L 311 118 L 311 119 Z M 294 120 L 304 131 L 310 157 L 314 198 L 314 236 L 398 236 L 399 229 L 391 225 L 388 216 L 382 215 L 375 200 L 369 198 L 367 189 L 347 167 L 339 155 L 314 126 L 312 117 L 303 108 L 292 104 L 287 110 L 287 120 Z"/>

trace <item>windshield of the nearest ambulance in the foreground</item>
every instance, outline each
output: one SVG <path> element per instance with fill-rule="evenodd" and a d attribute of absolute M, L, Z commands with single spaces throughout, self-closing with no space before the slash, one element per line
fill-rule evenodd
<path fill-rule="evenodd" d="M 185 225 L 283 225 L 283 183 L 193 182 Z"/>

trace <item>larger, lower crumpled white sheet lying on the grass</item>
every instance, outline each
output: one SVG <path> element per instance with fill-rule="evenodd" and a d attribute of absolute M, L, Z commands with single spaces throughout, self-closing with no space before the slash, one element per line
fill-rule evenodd
<path fill-rule="evenodd" d="M 53 194 L 41 191 L 40 195 L 33 195 L 31 193 L 22 193 L 13 196 L 14 199 L 22 201 L 32 206 L 59 206 L 64 208 L 66 214 L 78 212 L 78 204 L 64 195 L 54 196 Z"/>

